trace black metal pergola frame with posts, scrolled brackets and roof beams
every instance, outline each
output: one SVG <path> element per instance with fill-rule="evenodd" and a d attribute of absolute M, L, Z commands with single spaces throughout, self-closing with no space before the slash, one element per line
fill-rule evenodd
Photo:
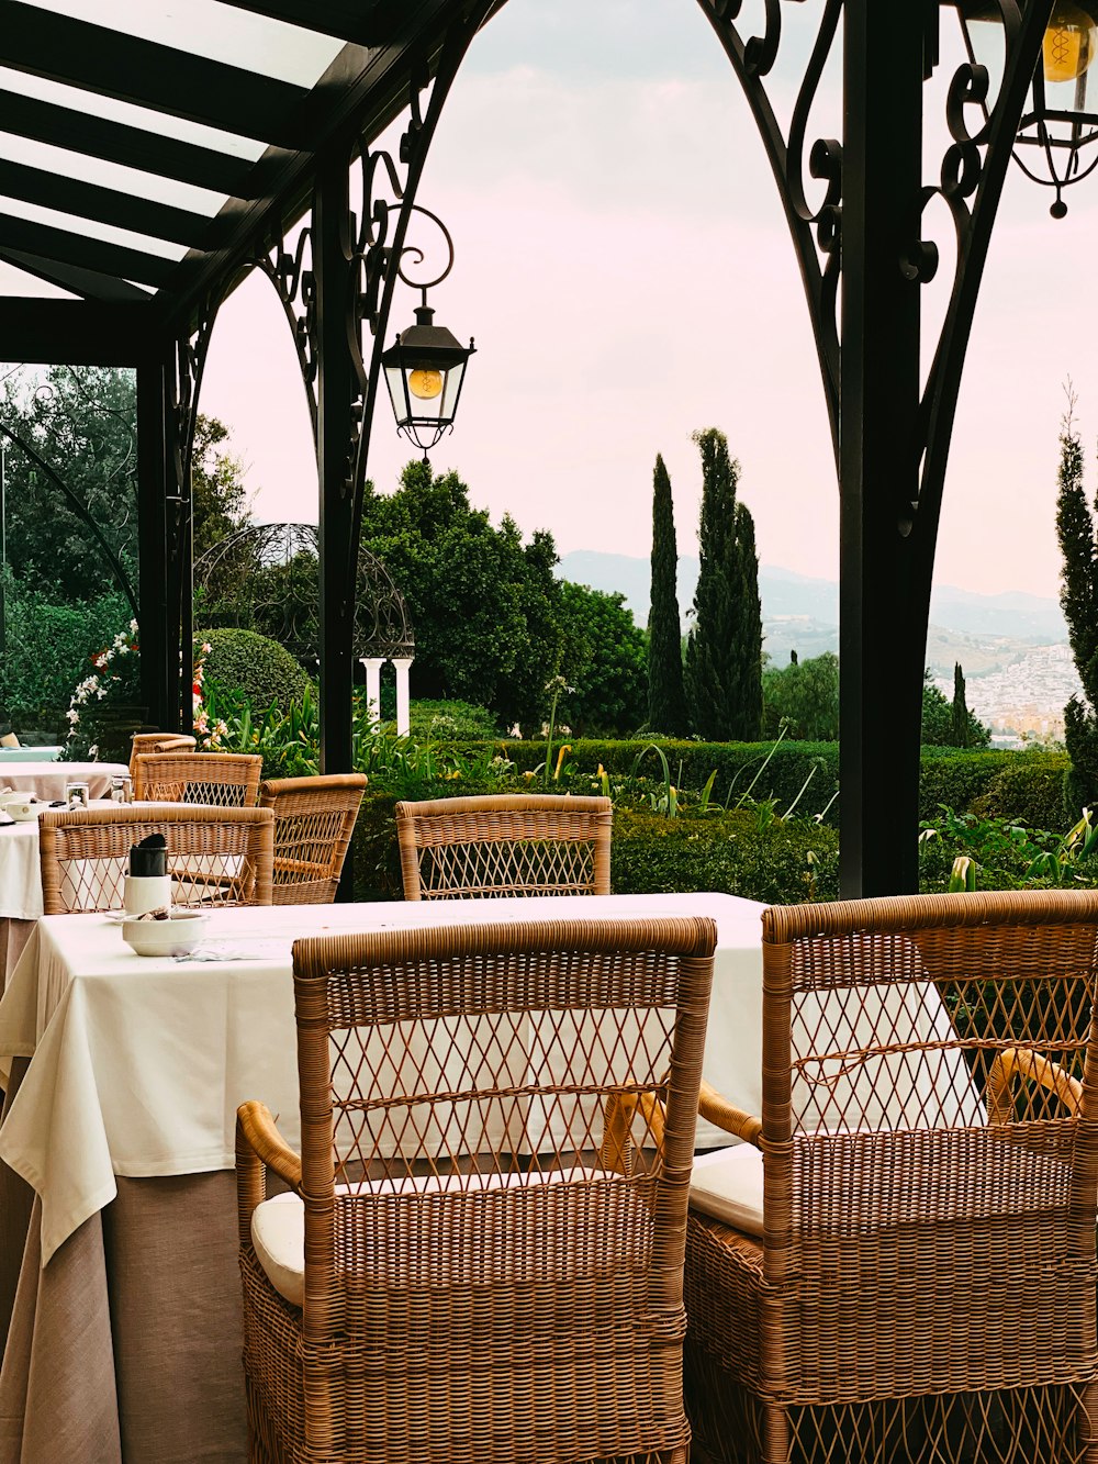
<path fill-rule="evenodd" d="M 164 567 L 163 575 L 142 575 L 142 662 L 146 700 L 164 726 L 179 726 L 189 704 L 190 454 L 202 367 L 218 306 L 258 268 L 283 302 L 310 401 L 322 760 L 329 772 L 350 766 L 354 575 L 384 341 L 439 114 L 468 42 L 502 3 L 209 0 L 233 16 L 242 38 L 231 61 L 195 54 L 184 28 L 176 44 L 143 40 L 133 0 L 117 0 L 113 26 L 25 0 L 0 4 L 0 60 L 37 79 L 26 89 L 0 86 L 4 129 L 151 176 L 142 195 L 133 174 L 123 187 L 88 182 L 78 168 L 51 171 L 29 155 L 0 160 L 7 198 L 45 205 L 63 220 L 41 223 L 34 209 L 0 212 L 0 258 L 78 296 L 0 300 L 0 340 L 10 360 L 136 367 L 139 548 L 142 564 Z M 758 32 L 748 34 L 738 26 L 741 0 L 695 3 L 744 88 L 779 186 L 832 422 L 840 489 L 843 893 L 909 890 L 918 873 L 930 587 L 972 313 L 1019 129 L 1029 129 L 1047 158 L 1066 160 L 1066 182 L 1089 165 L 1086 148 L 1098 132 L 1078 85 L 1086 67 L 1075 79 L 1075 108 L 1058 108 L 1073 116 L 1057 116 L 1053 88 L 1045 91 L 1038 73 L 1053 0 L 960 0 L 968 19 L 996 22 L 998 85 L 971 51 L 949 85 L 949 142 L 935 176 L 925 179 L 924 91 L 938 66 L 940 25 L 955 16 L 950 4 L 820 0 L 815 41 L 782 129 L 767 78 L 785 18 L 808 7 L 763 0 Z M 682 6 L 685 23 L 687 0 Z M 1075 7 L 1091 15 L 1089 0 Z M 1080 48 L 1091 45 L 1088 28 L 1070 23 Z M 1061 70 L 1079 66 L 1073 44 L 1060 45 Z M 836 45 L 843 136 L 810 139 L 813 101 Z M 293 53 L 281 75 L 249 64 L 271 47 Z M 102 108 L 97 97 L 124 108 Z M 375 139 L 401 113 L 407 127 L 394 158 Z M 171 119 L 214 130 L 196 135 Z M 1058 152 L 1054 135 L 1067 139 Z M 360 201 L 351 195 L 351 167 Z M 815 206 L 807 202 L 810 179 L 823 187 Z M 220 198 L 220 209 L 202 212 L 180 184 Z M 921 296 L 938 269 L 937 244 L 924 237 L 931 199 L 952 220 L 956 266 L 921 388 Z M 302 215 L 306 227 L 291 250 L 290 225 Z"/>

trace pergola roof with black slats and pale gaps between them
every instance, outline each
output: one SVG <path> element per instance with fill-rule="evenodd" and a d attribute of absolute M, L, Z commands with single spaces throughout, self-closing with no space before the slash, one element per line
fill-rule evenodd
<path fill-rule="evenodd" d="M 111 359 L 124 319 L 186 332 L 305 212 L 318 158 L 401 113 L 410 57 L 433 67 L 455 9 L 0 0 L 0 259 L 91 306 L 4 300 L 4 359 L 73 359 L 81 337 L 95 354 L 107 318 Z"/>

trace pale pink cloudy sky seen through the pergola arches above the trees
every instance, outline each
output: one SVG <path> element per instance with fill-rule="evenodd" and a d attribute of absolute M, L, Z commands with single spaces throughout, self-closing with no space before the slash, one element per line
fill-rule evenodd
<path fill-rule="evenodd" d="M 952 72 L 952 37 L 943 42 L 928 177 Z M 788 105 L 780 76 L 776 88 Z M 817 113 L 810 138 L 839 135 L 834 85 Z M 837 577 L 834 468 L 793 250 L 738 82 L 692 0 L 511 0 L 458 76 L 419 201 L 457 247 L 432 297 L 438 319 L 477 343 L 455 432 L 432 460 L 460 471 L 474 505 L 512 514 L 526 533 L 549 529 L 561 552 L 647 556 L 662 452 L 679 552 L 692 553 L 690 438 L 717 426 L 742 464 L 760 558 Z M 1058 593 L 1069 375 L 1085 438 L 1098 435 L 1098 360 L 1082 329 L 1098 177 L 1067 201 L 1054 223 L 1047 190 L 1012 167 L 960 392 L 938 583 Z M 944 209 L 927 227 L 944 281 Z M 930 287 L 928 318 L 944 294 Z M 413 303 L 398 305 L 392 329 Z M 296 357 L 262 278 L 223 307 L 201 408 L 231 427 L 256 518 L 315 520 Z M 386 490 L 413 454 L 384 395 L 378 410 L 370 476 Z"/>

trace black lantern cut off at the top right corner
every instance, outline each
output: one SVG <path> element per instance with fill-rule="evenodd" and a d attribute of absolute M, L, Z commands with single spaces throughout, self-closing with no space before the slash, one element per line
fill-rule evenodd
<path fill-rule="evenodd" d="M 969 60 L 994 76 L 1003 63 L 997 0 L 957 0 Z M 1029 105 L 1015 138 L 1015 161 L 1035 183 L 1056 189 L 1048 209 L 1063 218 L 1063 190 L 1098 165 L 1098 0 L 1056 0 L 1034 72 Z M 1094 76 L 1091 75 L 1094 72 Z"/>

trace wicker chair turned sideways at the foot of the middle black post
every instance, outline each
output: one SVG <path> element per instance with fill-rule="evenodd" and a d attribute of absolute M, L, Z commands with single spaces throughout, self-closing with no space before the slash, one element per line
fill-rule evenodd
<path fill-rule="evenodd" d="M 363 773 L 278 777 L 259 785 L 275 815 L 275 905 L 329 905 L 366 788 Z"/>

